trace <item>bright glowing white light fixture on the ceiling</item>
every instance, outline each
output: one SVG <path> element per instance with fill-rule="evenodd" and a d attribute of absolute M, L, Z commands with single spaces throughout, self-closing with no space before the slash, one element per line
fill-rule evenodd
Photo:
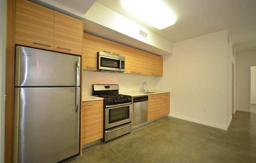
<path fill-rule="evenodd" d="M 143 22 L 164 29 L 176 22 L 176 16 L 161 0 L 122 0 L 123 7 Z"/>

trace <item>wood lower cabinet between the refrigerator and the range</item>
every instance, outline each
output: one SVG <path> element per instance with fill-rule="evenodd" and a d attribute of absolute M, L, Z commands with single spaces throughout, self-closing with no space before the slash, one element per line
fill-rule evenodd
<path fill-rule="evenodd" d="M 82 102 L 81 143 L 103 138 L 103 100 Z"/>

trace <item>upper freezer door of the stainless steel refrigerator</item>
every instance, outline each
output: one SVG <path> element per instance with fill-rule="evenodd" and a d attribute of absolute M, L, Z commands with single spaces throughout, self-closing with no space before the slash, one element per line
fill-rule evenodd
<path fill-rule="evenodd" d="M 80 56 L 16 46 L 15 86 L 80 86 Z"/>

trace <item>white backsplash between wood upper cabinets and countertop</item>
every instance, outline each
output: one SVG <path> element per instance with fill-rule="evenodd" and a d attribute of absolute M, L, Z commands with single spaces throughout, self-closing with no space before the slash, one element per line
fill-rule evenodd
<path fill-rule="evenodd" d="M 130 75 L 123 73 L 83 71 L 83 93 L 91 95 L 93 84 L 118 84 L 119 91 L 140 91 L 142 83 L 146 82 L 145 89 L 154 90 L 157 78 L 154 76 Z"/>

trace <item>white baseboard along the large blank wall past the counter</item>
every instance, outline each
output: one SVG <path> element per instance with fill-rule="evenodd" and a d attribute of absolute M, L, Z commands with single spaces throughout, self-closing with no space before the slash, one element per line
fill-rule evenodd
<path fill-rule="evenodd" d="M 197 119 L 193 119 L 193 118 L 189 118 L 189 117 L 185 117 L 185 116 L 180 116 L 180 115 L 177 115 L 177 114 L 170 114 L 170 117 L 179 118 L 181 120 L 191 121 L 191 122 L 199 123 L 199 124 L 202 124 L 202 125 L 207 125 L 207 126 L 210 126 L 210 127 L 215 127 L 215 128 L 222 129 L 222 130 L 227 130 L 227 128 L 228 128 L 225 125 L 210 123 L 210 122 L 207 122 L 207 121 L 197 120 Z"/>

